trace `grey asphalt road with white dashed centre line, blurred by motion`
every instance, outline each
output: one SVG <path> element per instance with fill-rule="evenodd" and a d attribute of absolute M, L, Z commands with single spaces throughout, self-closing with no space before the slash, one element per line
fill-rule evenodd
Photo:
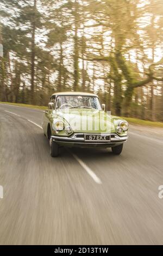
<path fill-rule="evenodd" d="M 0 244 L 162 244 L 162 136 L 132 127 L 120 156 L 62 148 L 52 158 L 41 119 L 0 105 Z"/>

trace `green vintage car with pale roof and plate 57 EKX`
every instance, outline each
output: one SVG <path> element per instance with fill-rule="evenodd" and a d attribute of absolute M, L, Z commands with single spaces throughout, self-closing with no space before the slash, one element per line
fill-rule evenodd
<path fill-rule="evenodd" d="M 44 111 L 42 128 L 53 157 L 61 146 L 111 148 L 119 155 L 128 139 L 127 121 L 105 112 L 105 105 L 91 93 L 54 93 Z"/>

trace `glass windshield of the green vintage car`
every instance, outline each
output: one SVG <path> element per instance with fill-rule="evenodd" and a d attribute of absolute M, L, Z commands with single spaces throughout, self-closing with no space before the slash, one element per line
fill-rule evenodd
<path fill-rule="evenodd" d="M 102 110 L 96 96 L 58 96 L 56 109 L 64 108 L 94 108 Z"/>

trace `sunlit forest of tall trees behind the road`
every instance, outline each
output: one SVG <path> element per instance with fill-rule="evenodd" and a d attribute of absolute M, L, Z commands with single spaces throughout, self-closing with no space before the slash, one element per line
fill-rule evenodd
<path fill-rule="evenodd" d="M 0 0 L 0 101 L 94 92 L 112 114 L 163 121 L 162 0 Z"/>

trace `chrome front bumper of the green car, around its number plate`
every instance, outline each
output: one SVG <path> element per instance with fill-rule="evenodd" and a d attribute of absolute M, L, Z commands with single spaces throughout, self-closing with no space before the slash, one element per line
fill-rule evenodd
<path fill-rule="evenodd" d="M 120 137 L 116 133 L 108 134 L 110 135 L 110 141 L 85 141 L 84 135 L 86 133 L 73 133 L 71 136 L 55 136 L 52 135 L 51 138 L 57 143 L 70 143 L 73 147 L 114 147 L 117 144 L 122 144 L 127 141 L 128 136 Z M 89 134 L 89 133 L 87 133 Z M 105 133 L 106 135 L 106 133 Z"/>

